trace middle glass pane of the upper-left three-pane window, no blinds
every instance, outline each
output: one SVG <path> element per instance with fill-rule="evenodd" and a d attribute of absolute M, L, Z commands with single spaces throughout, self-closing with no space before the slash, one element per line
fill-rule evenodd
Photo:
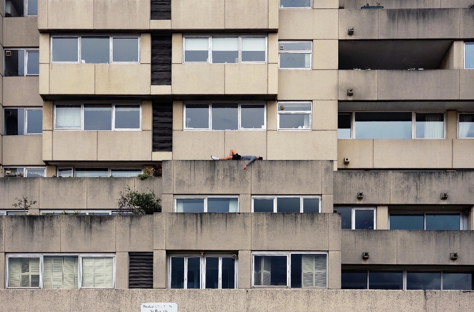
<path fill-rule="evenodd" d="M 80 38 L 80 62 L 86 64 L 110 63 L 110 37 Z"/>

